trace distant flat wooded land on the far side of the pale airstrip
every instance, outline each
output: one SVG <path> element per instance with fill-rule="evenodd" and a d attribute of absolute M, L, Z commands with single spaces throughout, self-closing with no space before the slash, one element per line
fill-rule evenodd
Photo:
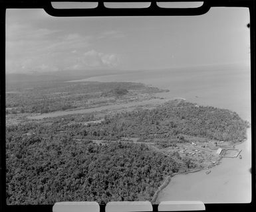
<path fill-rule="evenodd" d="M 49 113 L 78 107 L 89 108 L 96 103 L 112 103 L 116 97 L 120 98 L 129 92 L 134 97 L 163 91 L 166 90 L 133 82 L 49 81 L 29 85 L 8 84 L 6 113 Z"/>

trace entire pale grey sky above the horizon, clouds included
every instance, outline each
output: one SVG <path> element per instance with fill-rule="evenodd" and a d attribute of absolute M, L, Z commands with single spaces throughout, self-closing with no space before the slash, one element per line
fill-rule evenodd
<path fill-rule="evenodd" d="M 7 9 L 6 72 L 249 66 L 249 10 L 193 17 L 51 17 Z"/>

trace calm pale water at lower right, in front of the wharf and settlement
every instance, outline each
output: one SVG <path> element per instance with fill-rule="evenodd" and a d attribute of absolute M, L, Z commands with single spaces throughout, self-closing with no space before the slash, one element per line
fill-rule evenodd
<path fill-rule="evenodd" d="M 237 144 L 242 158 L 222 158 L 221 164 L 190 174 L 179 174 L 160 191 L 160 201 L 203 201 L 203 203 L 250 203 L 251 202 L 251 128 L 247 140 Z"/>

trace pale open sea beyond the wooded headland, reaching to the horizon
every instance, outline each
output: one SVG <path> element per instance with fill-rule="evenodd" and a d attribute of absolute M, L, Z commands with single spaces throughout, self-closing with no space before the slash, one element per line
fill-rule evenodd
<path fill-rule="evenodd" d="M 169 89 L 166 98 L 183 97 L 199 105 L 230 109 L 251 122 L 251 73 L 246 66 L 201 66 L 120 72 L 76 81 L 133 81 Z"/>

